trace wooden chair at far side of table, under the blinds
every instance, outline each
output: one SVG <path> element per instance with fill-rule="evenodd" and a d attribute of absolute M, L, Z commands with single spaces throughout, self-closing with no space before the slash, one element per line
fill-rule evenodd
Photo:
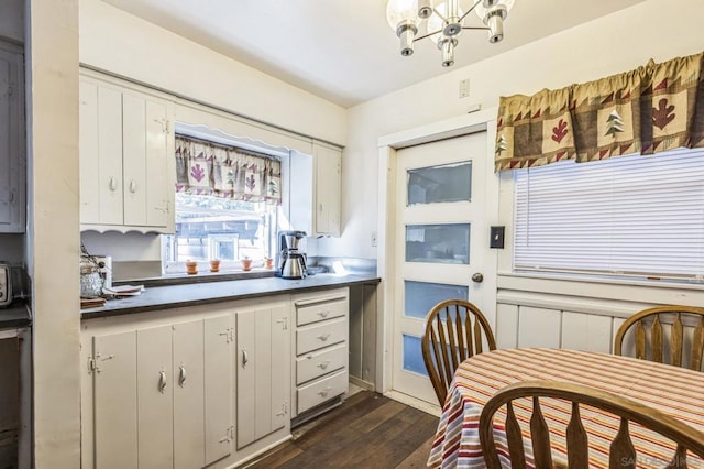
<path fill-rule="evenodd" d="M 685 349 L 684 328 L 682 317 L 693 317 L 696 320 L 694 335 L 690 346 L 689 368 L 701 371 L 702 352 L 704 351 L 704 308 L 693 306 L 659 306 L 636 313 L 618 328 L 614 340 L 614 353 L 622 355 L 624 336 L 635 326 L 636 358 L 663 361 L 663 342 L 666 340 L 662 319 L 660 315 L 674 315 L 674 321 L 670 331 L 670 364 L 682 367 L 682 356 Z M 647 327 L 647 324 L 651 325 Z M 646 334 L 649 329 L 650 334 Z M 666 329 L 667 330 L 667 329 Z M 648 355 L 650 351 L 650 355 Z M 648 358 L 649 357 L 649 358 Z"/>

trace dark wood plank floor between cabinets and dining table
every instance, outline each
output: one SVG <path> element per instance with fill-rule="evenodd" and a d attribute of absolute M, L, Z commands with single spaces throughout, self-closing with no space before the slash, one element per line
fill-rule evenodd
<path fill-rule="evenodd" d="M 294 429 L 248 468 L 424 468 L 438 417 L 371 391 Z"/>

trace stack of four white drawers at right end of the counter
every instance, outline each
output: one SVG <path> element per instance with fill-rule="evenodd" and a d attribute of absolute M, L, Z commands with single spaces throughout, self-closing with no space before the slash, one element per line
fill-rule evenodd
<path fill-rule="evenodd" d="M 348 392 L 349 297 L 348 288 L 294 296 L 294 417 Z"/>

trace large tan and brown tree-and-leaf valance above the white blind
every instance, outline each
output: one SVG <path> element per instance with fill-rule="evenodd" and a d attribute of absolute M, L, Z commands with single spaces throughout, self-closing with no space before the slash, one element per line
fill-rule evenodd
<path fill-rule="evenodd" d="M 704 146 L 704 53 L 502 97 L 495 171 Z"/>

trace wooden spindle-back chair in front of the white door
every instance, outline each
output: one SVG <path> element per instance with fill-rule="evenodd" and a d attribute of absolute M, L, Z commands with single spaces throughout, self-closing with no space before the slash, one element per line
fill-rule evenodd
<path fill-rule="evenodd" d="M 441 407 L 454 370 L 463 360 L 483 351 L 483 336 L 488 350 L 496 350 L 488 320 L 480 308 L 464 299 L 440 302 L 426 316 L 422 360 Z"/>

